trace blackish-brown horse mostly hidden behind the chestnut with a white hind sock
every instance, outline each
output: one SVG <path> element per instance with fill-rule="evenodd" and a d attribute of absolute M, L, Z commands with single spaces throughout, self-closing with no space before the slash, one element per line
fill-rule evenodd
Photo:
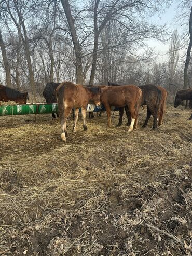
<path fill-rule="evenodd" d="M 108 83 L 112 84 L 112 83 Z M 116 86 L 119 86 L 116 84 Z M 153 130 L 157 129 L 157 119 L 160 109 L 160 100 L 161 100 L 161 91 L 157 88 L 157 86 L 148 84 L 143 86 L 138 86 L 142 90 L 142 101 L 141 106 L 147 105 L 147 117 L 142 128 L 145 128 L 148 124 L 148 120 L 151 115 L 153 115 Z M 127 107 L 125 107 L 126 115 L 128 118 L 127 125 L 131 124 L 130 113 Z M 122 116 L 124 115 L 124 108 L 119 111 L 119 123 L 117 126 L 121 126 L 122 124 Z"/>

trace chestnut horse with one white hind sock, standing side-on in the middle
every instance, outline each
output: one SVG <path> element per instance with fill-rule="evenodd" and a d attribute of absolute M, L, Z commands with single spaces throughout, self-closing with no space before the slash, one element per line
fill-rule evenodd
<path fill-rule="evenodd" d="M 142 100 L 142 91 L 135 85 L 122 86 L 101 86 L 101 103 L 105 106 L 108 123 L 107 127 L 111 126 L 111 106 L 120 107 L 123 109 L 128 107 L 131 124 L 129 132 L 136 129 L 138 123 L 138 113 Z"/>

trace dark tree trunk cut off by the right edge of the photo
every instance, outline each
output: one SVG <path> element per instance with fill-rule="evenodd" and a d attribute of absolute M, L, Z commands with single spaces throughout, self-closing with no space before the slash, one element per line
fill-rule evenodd
<path fill-rule="evenodd" d="M 192 47 L 192 7 L 190 10 L 190 19 L 189 19 L 189 35 L 190 35 L 190 41 L 189 41 L 189 45 L 188 45 L 188 49 L 187 49 L 187 57 L 186 57 L 186 62 L 185 62 L 185 68 L 184 68 L 184 85 L 183 85 L 183 89 L 186 89 L 188 86 L 188 66 L 189 66 L 189 60 L 190 60 L 190 51 L 191 51 L 191 47 Z"/>

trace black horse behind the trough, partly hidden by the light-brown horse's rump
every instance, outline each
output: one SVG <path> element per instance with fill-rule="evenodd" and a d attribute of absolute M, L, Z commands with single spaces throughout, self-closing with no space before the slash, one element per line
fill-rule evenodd
<path fill-rule="evenodd" d="M 60 85 L 61 83 L 53 83 L 49 82 L 46 84 L 44 91 L 43 91 L 43 96 L 46 100 L 46 103 L 55 103 L 57 102 L 56 98 L 56 88 Z M 56 113 L 57 117 L 59 117 L 58 113 Z M 56 118 L 54 113 L 52 113 L 52 118 Z"/>

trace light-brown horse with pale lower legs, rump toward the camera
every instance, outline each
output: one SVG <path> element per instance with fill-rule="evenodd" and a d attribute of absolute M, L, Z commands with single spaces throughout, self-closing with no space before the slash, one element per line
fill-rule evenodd
<path fill-rule="evenodd" d="M 81 113 L 83 115 L 83 128 L 86 131 L 86 109 L 89 101 L 93 101 L 96 106 L 99 106 L 101 104 L 99 88 L 89 88 L 83 85 L 73 84 L 67 81 L 61 83 L 57 87 L 56 97 L 58 100 L 59 117 L 61 120 L 61 139 L 63 141 L 66 141 L 67 136 L 66 120 L 70 115 L 70 112 L 73 109 L 73 107 L 75 109 L 75 122 L 73 125 L 73 131 L 76 132 L 76 124 L 80 107 Z"/>

